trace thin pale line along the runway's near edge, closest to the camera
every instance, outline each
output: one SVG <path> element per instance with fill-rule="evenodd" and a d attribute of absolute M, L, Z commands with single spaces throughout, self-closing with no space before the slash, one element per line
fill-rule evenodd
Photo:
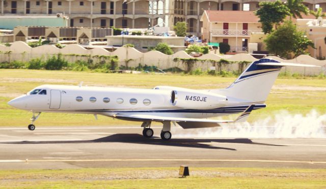
<path fill-rule="evenodd" d="M 281 161 L 281 160 L 197 160 L 197 159 L 95 159 L 95 160 L 0 160 L 0 163 L 13 163 L 13 162 L 264 162 L 264 163 L 308 163 L 308 164 L 326 164 L 326 162 L 313 162 L 313 161 Z"/>

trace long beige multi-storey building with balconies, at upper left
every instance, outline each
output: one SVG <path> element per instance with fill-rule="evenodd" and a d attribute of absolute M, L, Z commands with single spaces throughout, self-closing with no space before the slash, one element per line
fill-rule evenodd
<path fill-rule="evenodd" d="M 165 19 L 166 0 L 0 0 L 1 15 L 64 14 L 70 26 L 148 28 Z"/>

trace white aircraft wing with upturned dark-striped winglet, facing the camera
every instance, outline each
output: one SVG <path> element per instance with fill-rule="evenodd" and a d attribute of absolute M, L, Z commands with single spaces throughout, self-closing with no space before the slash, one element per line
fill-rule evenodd
<path fill-rule="evenodd" d="M 209 127 L 219 127 L 219 123 L 231 123 L 231 122 L 243 122 L 246 121 L 251 111 L 254 109 L 255 105 L 249 106 L 244 110 L 241 115 L 235 120 L 218 120 L 218 119 L 203 119 L 203 118 L 184 118 L 184 117 L 168 117 L 168 116 L 158 116 L 158 115 L 147 115 L 147 114 L 115 114 L 114 117 L 125 120 L 133 121 L 172 121 L 177 122 L 182 128 L 209 128 Z"/>

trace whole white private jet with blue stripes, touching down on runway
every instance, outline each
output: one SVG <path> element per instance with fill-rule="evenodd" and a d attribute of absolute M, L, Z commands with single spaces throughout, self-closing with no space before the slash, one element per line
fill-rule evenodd
<path fill-rule="evenodd" d="M 144 137 L 154 132 L 152 121 L 162 122 L 161 138 L 171 139 L 171 122 L 183 129 L 218 127 L 221 123 L 246 121 L 253 110 L 265 108 L 264 102 L 284 66 L 314 67 L 260 59 L 227 88 L 194 90 L 173 86 L 153 89 L 111 88 L 70 85 L 41 85 L 17 97 L 9 105 L 33 112 L 29 130 L 41 112 L 83 113 L 140 121 Z M 212 78 L 213 79 L 213 78 Z M 214 117 L 241 113 L 235 120 Z"/>

